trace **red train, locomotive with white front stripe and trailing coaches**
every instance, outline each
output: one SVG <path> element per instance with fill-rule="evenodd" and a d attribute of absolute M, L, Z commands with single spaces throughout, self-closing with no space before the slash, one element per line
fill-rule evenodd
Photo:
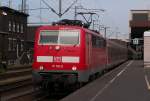
<path fill-rule="evenodd" d="M 126 44 L 106 42 L 97 32 L 81 26 L 56 24 L 42 26 L 36 31 L 35 80 L 69 84 L 88 82 L 93 75 L 126 59 Z"/>

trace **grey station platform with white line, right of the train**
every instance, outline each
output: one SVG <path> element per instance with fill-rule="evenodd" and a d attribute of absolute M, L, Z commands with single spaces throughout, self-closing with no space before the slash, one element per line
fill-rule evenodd
<path fill-rule="evenodd" d="M 61 101 L 150 101 L 143 61 L 131 60 Z"/>

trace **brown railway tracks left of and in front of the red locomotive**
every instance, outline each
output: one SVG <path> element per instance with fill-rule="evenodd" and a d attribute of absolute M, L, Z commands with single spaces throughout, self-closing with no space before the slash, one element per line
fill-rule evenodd
<path fill-rule="evenodd" d="M 11 67 L 0 74 L 0 101 L 59 101 L 66 93 L 64 88 L 64 93 L 49 96 L 33 86 L 30 65 Z"/>

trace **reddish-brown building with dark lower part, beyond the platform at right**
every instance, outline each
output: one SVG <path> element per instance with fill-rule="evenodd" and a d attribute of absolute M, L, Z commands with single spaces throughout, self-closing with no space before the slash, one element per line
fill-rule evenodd
<path fill-rule="evenodd" d="M 150 10 L 131 10 L 130 45 L 137 52 L 137 59 L 143 59 L 143 35 L 150 29 Z"/>

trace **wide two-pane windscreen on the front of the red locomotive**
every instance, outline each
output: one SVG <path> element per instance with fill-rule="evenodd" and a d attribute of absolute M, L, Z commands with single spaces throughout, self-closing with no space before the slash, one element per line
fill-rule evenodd
<path fill-rule="evenodd" d="M 45 30 L 40 32 L 39 44 L 78 45 L 79 31 L 77 30 Z"/>

